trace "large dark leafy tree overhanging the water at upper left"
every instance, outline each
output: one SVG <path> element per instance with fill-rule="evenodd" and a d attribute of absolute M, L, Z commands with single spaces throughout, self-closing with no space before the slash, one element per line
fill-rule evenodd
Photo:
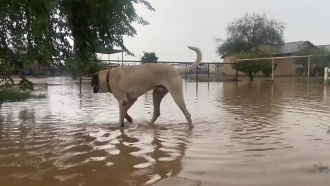
<path fill-rule="evenodd" d="M 135 3 L 154 10 L 146 0 L 0 1 L 0 81 L 12 82 L 12 68 L 19 69 L 23 79 L 23 70 L 34 61 L 58 65 L 72 56 L 80 61 L 78 72 L 96 59 L 100 47 L 133 54 L 123 37 L 137 34 L 133 23 L 148 25 Z"/>

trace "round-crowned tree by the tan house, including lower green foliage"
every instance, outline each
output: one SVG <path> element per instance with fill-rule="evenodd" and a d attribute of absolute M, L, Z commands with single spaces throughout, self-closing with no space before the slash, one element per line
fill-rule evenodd
<path fill-rule="evenodd" d="M 233 55 L 238 59 L 252 59 L 269 56 L 264 45 L 281 47 L 284 42 L 285 24 L 268 19 L 266 14 L 245 14 L 245 17 L 232 21 L 226 28 L 228 38 L 217 39 L 220 45 L 217 53 L 221 56 Z M 239 71 L 247 74 L 250 81 L 254 75 L 263 72 L 269 76 L 272 72 L 270 61 L 240 61 Z M 236 70 L 236 65 L 232 65 Z"/>

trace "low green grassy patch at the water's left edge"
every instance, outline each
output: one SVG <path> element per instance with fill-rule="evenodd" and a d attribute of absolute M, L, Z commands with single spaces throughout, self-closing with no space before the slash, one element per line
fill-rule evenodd
<path fill-rule="evenodd" d="M 28 91 L 19 91 L 14 88 L 3 88 L 0 90 L 0 102 L 5 101 L 23 101 L 25 99 L 43 99 L 45 94 L 32 94 Z"/>

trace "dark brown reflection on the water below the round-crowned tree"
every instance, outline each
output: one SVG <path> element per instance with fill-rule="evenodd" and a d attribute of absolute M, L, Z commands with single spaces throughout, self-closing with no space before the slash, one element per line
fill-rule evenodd
<path fill-rule="evenodd" d="M 281 115 L 283 91 L 275 83 L 225 83 L 223 104 L 241 118 L 276 117 Z M 232 107 L 235 105 L 235 107 Z"/>

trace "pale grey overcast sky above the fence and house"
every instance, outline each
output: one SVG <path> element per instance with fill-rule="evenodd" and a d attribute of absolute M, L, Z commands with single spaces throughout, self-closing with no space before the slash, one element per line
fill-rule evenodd
<path fill-rule="evenodd" d="M 225 28 L 245 13 L 266 13 L 286 23 L 285 41 L 311 41 L 330 44 L 329 0 L 149 0 L 155 12 L 136 6 L 138 14 L 150 25 L 135 25 L 137 36 L 124 39 L 139 60 L 143 51 L 155 52 L 159 61 L 194 61 L 187 45 L 199 47 L 203 61 L 222 61 L 215 52 L 214 38 L 225 39 Z M 107 59 L 107 55 L 102 56 Z M 111 54 L 110 59 L 122 59 Z"/>

